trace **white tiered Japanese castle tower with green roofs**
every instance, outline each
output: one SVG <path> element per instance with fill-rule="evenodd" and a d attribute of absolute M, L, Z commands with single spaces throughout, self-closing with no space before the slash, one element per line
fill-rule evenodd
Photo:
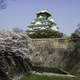
<path fill-rule="evenodd" d="M 28 26 L 27 32 L 33 33 L 35 31 L 48 29 L 58 31 L 59 28 L 49 11 L 42 10 L 36 13 L 36 18 L 31 22 L 30 26 Z"/>

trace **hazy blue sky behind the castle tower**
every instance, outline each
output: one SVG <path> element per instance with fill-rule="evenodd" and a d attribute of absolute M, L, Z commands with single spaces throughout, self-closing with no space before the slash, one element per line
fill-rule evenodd
<path fill-rule="evenodd" d="M 36 17 L 36 12 L 48 9 L 56 19 L 60 31 L 70 34 L 80 23 L 80 0 L 7 0 L 0 10 L 0 30 L 19 27 L 24 30 Z"/>

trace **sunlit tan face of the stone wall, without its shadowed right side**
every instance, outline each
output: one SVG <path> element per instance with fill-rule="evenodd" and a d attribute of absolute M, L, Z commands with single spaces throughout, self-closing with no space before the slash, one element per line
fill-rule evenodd
<path fill-rule="evenodd" d="M 58 66 L 64 52 L 71 46 L 69 39 L 33 39 L 34 46 L 33 62 L 36 65 Z"/>

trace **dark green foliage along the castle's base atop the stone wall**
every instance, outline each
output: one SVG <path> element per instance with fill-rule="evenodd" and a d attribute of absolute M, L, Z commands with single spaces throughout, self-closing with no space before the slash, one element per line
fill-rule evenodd
<path fill-rule="evenodd" d="M 63 33 L 54 30 L 42 30 L 42 31 L 35 31 L 32 34 L 28 34 L 31 38 L 61 38 Z"/>

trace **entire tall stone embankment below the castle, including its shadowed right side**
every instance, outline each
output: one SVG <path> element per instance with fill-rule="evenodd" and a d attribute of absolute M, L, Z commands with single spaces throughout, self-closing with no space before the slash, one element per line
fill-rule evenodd
<path fill-rule="evenodd" d="M 33 39 L 33 65 L 57 67 L 80 76 L 80 40 Z"/>

